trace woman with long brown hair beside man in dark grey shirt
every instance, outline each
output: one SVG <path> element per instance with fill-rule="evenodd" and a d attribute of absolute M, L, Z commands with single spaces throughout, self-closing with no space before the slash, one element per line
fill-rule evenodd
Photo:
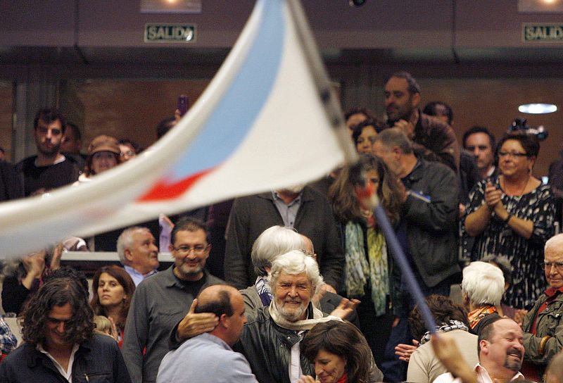
<path fill-rule="evenodd" d="M 123 342 L 123 330 L 135 284 L 127 272 L 116 265 L 96 270 L 92 280 L 94 294 L 90 306 L 96 315 L 103 315 L 115 324 L 118 342 Z"/>

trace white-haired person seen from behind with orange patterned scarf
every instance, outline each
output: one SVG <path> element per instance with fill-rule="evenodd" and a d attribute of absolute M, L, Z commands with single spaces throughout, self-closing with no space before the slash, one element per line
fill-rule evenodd
<path fill-rule="evenodd" d="M 469 310 L 469 327 L 479 334 L 481 327 L 500 318 L 498 306 L 505 292 L 505 277 L 500 268 L 486 262 L 472 262 L 463 269 L 463 304 Z"/>

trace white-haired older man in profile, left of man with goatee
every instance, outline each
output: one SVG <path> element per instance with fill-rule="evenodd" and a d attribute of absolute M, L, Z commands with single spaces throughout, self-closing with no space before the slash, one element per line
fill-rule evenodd
<path fill-rule="evenodd" d="M 158 247 L 146 227 L 129 227 L 118 238 L 118 256 L 135 286 L 158 269 Z"/>

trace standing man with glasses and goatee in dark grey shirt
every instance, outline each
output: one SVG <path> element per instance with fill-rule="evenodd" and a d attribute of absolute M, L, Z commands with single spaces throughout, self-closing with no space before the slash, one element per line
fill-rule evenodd
<path fill-rule="evenodd" d="M 177 222 L 170 237 L 174 265 L 143 280 L 135 289 L 122 348 L 134 382 L 156 381 L 172 328 L 193 318 L 186 314 L 193 310 L 192 303 L 201 289 L 224 283 L 205 270 L 210 250 L 207 234 L 207 227 L 199 220 L 184 218 Z"/>

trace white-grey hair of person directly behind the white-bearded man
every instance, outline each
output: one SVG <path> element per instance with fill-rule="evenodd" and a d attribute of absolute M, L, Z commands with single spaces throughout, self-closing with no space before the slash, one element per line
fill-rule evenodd
<path fill-rule="evenodd" d="M 267 228 L 258 236 L 252 246 L 251 258 L 256 275 L 265 277 L 265 267 L 270 267 L 272 261 L 281 254 L 292 250 L 301 250 L 305 243 L 295 230 L 283 226 Z"/>

